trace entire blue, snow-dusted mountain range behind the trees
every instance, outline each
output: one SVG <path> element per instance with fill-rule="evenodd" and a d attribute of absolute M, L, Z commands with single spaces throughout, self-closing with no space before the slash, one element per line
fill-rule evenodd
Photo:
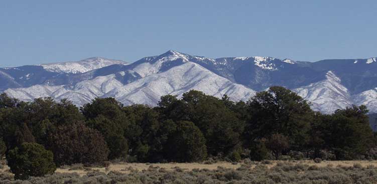
<path fill-rule="evenodd" d="M 272 57 L 207 58 L 177 51 L 133 63 L 105 58 L 0 68 L 0 92 L 24 101 L 67 98 L 81 106 L 96 97 L 125 105 L 156 105 L 162 95 L 195 89 L 247 101 L 271 86 L 289 88 L 332 113 L 352 104 L 377 112 L 377 58 L 302 62 Z"/>

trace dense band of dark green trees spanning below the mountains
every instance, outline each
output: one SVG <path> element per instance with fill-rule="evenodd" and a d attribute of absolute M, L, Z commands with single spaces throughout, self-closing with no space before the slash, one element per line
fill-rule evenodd
<path fill-rule="evenodd" d="M 367 112 L 363 105 L 331 115 L 315 112 L 308 101 L 278 86 L 247 102 L 192 90 L 181 98 L 162 96 L 156 107 L 96 98 L 78 108 L 67 99 L 23 102 L 3 93 L 0 155 L 18 178 L 112 159 L 377 159 Z M 31 166 L 44 169 L 29 173 Z"/>

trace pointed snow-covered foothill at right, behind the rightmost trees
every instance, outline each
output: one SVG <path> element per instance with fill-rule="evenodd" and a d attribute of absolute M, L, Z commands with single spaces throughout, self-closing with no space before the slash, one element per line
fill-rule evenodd
<path fill-rule="evenodd" d="M 344 109 L 352 105 L 347 88 L 340 82 L 340 79 L 332 71 L 329 71 L 326 73 L 325 80 L 293 91 L 310 101 L 313 110 L 330 114 L 336 109 Z"/>

